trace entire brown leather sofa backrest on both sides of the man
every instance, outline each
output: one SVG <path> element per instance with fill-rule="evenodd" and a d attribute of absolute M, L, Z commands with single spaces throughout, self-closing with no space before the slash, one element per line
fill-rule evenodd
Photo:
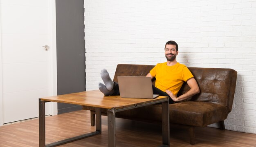
<path fill-rule="evenodd" d="M 114 81 L 118 82 L 117 76 L 146 76 L 153 67 L 154 65 L 119 64 L 117 65 Z M 231 111 L 236 89 L 237 72 L 234 69 L 224 68 L 188 68 L 200 88 L 200 93 L 189 100 L 225 105 Z M 155 79 L 152 80 L 152 84 L 155 84 Z M 188 90 L 189 86 L 184 82 L 178 95 L 184 94 Z"/>

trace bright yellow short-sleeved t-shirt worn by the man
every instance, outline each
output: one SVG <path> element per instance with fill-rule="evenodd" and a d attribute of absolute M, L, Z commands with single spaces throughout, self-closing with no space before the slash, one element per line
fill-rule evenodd
<path fill-rule="evenodd" d="M 173 66 L 167 66 L 167 62 L 158 63 L 150 74 L 156 78 L 155 87 L 164 92 L 170 90 L 174 95 L 178 94 L 184 81 L 194 77 L 185 65 L 178 62 Z"/>

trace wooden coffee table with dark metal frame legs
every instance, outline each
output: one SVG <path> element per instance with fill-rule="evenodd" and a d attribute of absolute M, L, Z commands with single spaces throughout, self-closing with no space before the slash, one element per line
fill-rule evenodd
<path fill-rule="evenodd" d="M 62 102 L 67 104 L 76 104 L 82 106 L 95 107 L 96 130 L 92 133 L 68 138 L 55 143 L 45 145 L 45 102 Z M 158 96 L 155 99 L 141 98 L 121 98 L 120 96 L 104 96 L 99 90 L 84 91 L 73 94 L 64 94 L 60 96 L 51 96 L 39 98 L 39 147 L 55 147 L 65 143 L 70 143 L 79 139 L 87 138 L 101 134 L 101 108 L 108 109 L 108 146 L 116 146 L 115 134 L 115 114 L 119 111 L 144 107 L 162 102 L 162 145 L 170 145 L 169 131 L 169 102 L 168 97 Z"/>

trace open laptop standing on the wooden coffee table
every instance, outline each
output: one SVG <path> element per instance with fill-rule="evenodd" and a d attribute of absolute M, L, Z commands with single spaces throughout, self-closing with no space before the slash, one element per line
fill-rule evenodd
<path fill-rule="evenodd" d="M 117 76 L 121 98 L 149 98 L 159 96 L 153 95 L 150 77 L 144 76 Z"/>

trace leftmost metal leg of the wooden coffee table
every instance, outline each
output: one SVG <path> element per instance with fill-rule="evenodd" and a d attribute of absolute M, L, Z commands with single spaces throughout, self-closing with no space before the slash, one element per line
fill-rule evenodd
<path fill-rule="evenodd" d="M 39 99 L 39 147 L 45 147 L 45 101 Z"/>

